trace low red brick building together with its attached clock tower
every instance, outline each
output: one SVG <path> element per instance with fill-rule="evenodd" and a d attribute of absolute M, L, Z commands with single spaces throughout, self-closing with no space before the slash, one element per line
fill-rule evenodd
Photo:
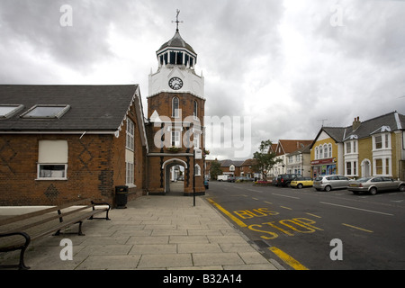
<path fill-rule="evenodd" d="M 204 194 L 204 78 L 178 29 L 157 50 L 148 118 L 138 85 L 0 85 L 0 205 Z M 174 175 L 174 174 L 172 174 Z"/>

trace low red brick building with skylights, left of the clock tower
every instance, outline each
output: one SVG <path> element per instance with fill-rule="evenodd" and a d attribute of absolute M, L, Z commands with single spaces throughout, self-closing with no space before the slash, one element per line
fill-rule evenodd
<path fill-rule="evenodd" d="M 0 205 L 143 193 L 138 85 L 0 85 L 0 99 Z"/>

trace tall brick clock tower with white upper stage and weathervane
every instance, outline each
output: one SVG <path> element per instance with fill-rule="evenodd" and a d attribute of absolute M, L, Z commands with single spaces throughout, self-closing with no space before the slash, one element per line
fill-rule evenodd
<path fill-rule="evenodd" d="M 148 193 L 179 189 L 204 194 L 204 78 L 197 53 L 178 30 L 157 49 L 157 71 L 148 79 Z M 182 177 L 183 176 L 183 177 Z M 184 178 L 184 181 L 178 181 Z M 175 188 L 174 188 L 175 187 Z"/>

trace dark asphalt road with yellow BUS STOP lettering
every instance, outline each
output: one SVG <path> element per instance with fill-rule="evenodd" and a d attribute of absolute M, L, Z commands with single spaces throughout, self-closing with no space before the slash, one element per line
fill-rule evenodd
<path fill-rule="evenodd" d="M 405 269 L 405 193 L 211 181 L 206 194 L 286 269 Z"/>

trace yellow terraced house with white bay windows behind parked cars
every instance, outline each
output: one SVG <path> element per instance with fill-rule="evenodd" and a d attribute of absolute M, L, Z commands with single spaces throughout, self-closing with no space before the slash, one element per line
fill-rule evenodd
<path fill-rule="evenodd" d="M 311 144 L 311 171 L 358 178 L 385 175 L 405 179 L 405 116 L 390 112 L 351 126 L 322 127 Z"/>

